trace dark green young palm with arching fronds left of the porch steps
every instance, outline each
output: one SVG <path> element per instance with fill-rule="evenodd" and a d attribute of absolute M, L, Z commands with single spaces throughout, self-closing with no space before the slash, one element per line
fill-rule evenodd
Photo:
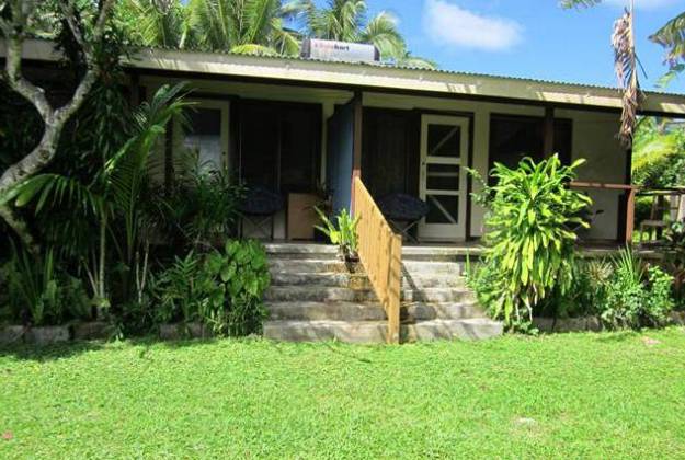
<path fill-rule="evenodd" d="M 106 289 L 106 255 L 112 242 L 123 262 L 135 269 L 137 295 L 140 297 L 147 274 L 149 241 L 141 238 L 145 230 L 141 197 L 146 189 L 155 146 L 173 117 L 182 117 L 189 105 L 182 99 L 183 84 L 161 87 L 151 102 L 142 103 L 135 114 L 135 134 L 124 146 L 105 159 L 88 182 L 62 174 L 38 174 L 12 189 L 15 206 L 36 200 L 35 212 L 68 208 L 73 220 L 87 225 L 96 222 L 99 234 L 87 254 L 83 267 L 88 273 L 99 310 L 110 306 Z M 139 254 L 144 252 L 142 275 Z"/>

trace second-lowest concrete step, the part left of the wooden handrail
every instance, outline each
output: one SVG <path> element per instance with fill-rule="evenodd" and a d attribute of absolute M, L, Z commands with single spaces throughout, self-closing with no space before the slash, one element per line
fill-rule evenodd
<path fill-rule="evenodd" d="M 358 302 L 270 302 L 271 321 L 384 321 L 380 303 Z"/>

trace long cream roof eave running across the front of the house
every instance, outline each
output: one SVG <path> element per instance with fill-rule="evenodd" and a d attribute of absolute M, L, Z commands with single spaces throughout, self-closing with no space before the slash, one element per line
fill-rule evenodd
<path fill-rule="evenodd" d="M 0 41 L 1 42 L 1 41 Z M 0 56 L 4 55 L 0 47 Z M 27 41 L 24 57 L 59 58 L 52 42 Z M 246 56 L 175 49 L 142 48 L 125 65 L 139 70 L 258 78 L 302 84 L 331 84 L 353 89 L 454 94 L 471 97 L 520 100 L 540 105 L 593 106 L 620 110 L 618 89 L 287 57 Z M 647 92 L 641 112 L 685 117 L 685 95 Z"/>

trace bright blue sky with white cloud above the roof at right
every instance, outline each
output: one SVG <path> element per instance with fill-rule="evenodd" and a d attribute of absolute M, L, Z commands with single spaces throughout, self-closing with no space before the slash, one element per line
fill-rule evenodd
<path fill-rule="evenodd" d="M 625 0 L 562 10 L 558 0 L 367 0 L 370 13 L 399 20 L 410 50 L 443 69 L 615 85 L 612 25 Z M 652 90 L 665 72 L 663 49 L 648 41 L 685 0 L 636 0 L 638 53 Z M 685 93 L 685 76 L 667 88 Z"/>

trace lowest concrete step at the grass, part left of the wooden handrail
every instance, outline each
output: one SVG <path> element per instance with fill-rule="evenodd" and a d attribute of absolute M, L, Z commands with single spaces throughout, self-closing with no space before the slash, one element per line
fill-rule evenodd
<path fill-rule="evenodd" d="M 386 343 L 385 321 L 266 321 L 264 337 L 283 342 Z"/>

